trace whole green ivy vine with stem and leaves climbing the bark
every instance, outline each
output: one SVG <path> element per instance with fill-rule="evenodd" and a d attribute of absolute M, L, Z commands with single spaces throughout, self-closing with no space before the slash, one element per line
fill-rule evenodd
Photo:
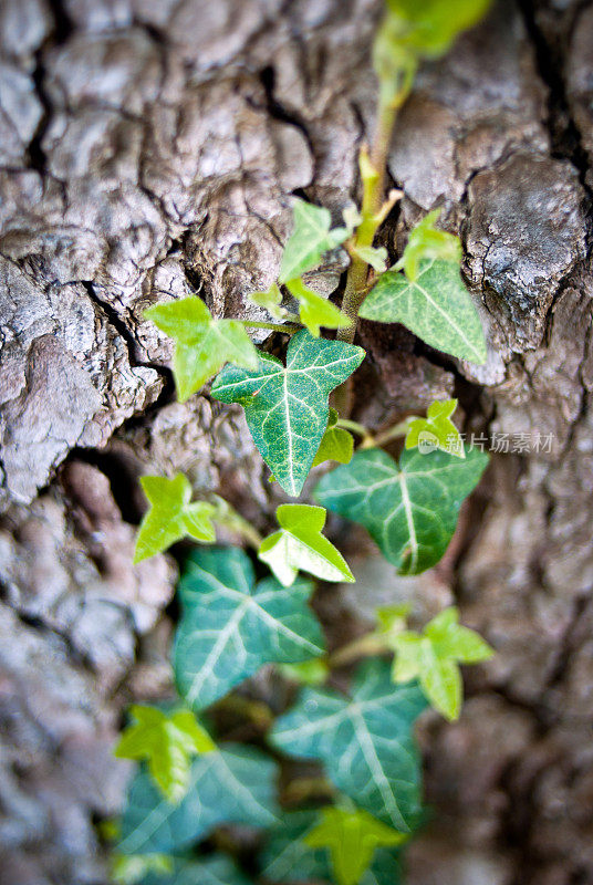
<path fill-rule="evenodd" d="M 445 553 L 460 506 L 487 464 L 482 451 L 465 449 L 451 420 L 455 399 L 433 403 L 426 417 L 406 418 L 377 437 L 348 416 L 355 372 L 365 358 L 354 344 L 358 317 L 402 323 L 459 360 L 486 360 L 481 324 L 460 275 L 460 242 L 438 227 L 439 211 L 416 225 L 393 267 L 375 237 L 402 197 L 397 190 L 385 196 L 386 157 L 417 66 L 446 52 L 487 6 L 387 0 L 374 45 L 376 132 L 360 155 L 361 209 L 346 210 L 343 223 L 332 227 L 327 209 L 294 200 L 278 280 L 251 295 L 269 322 L 215 319 L 195 295 L 146 311 L 175 340 L 179 400 L 211 382 L 215 399 L 242 406 L 271 480 L 287 496 L 301 494 L 312 467 L 340 466 L 316 483 L 314 503 L 281 504 L 278 530 L 267 538 L 221 498 L 194 501 L 180 473 L 142 479 L 149 509 L 135 561 L 185 538 L 198 545 L 178 587 L 181 615 L 171 656 L 178 697 L 132 707 L 115 750 L 141 763 L 117 824 L 115 882 L 400 881 L 402 848 L 423 820 L 415 722 L 427 705 L 456 719 L 459 665 L 492 653 L 459 624 L 455 607 L 415 632 L 407 626 L 408 608 L 399 605 L 378 610 L 373 632 L 330 655 L 310 601 L 313 579 L 354 582 L 324 534 L 327 510 L 363 525 L 399 574 L 419 574 Z M 339 248 L 350 257 L 341 308 L 305 278 Z M 284 358 L 258 350 L 250 327 L 288 336 Z M 323 337 L 322 329 L 335 334 Z M 404 441 L 398 461 L 384 449 L 397 438 Z M 253 555 L 217 546 L 222 525 L 241 534 Z M 353 663 L 347 693 L 330 687 L 332 671 Z M 236 691 L 264 665 L 274 667 L 288 697 L 299 686 L 280 716 Z M 257 722 L 257 746 L 217 743 L 220 710 Z M 291 760 L 311 760 L 323 775 L 294 774 Z M 251 852 L 247 864 L 237 862 L 239 847 L 220 829 L 231 824 L 258 833 L 257 856 Z"/>

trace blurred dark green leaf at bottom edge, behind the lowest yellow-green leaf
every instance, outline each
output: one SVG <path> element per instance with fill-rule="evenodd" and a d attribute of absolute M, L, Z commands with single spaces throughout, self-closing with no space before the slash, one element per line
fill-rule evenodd
<path fill-rule="evenodd" d="M 272 827 L 262 852 L 262 877 L 267 882 L 330 882 L 332 873 L 327 852 L 312 848 L 306 837 L 319 822 L 316 811 L 284 814 Z M 363 872 L 360 885 L 400 885 L 398 851 L 378 847 L 371 867 Z"/>

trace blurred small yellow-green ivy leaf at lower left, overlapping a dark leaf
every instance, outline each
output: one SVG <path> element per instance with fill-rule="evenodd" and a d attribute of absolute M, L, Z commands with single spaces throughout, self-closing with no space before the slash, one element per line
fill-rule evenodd
<path fill-rule="evenodd" d="M 156 707 L 134 706 L 136 720 L 123 732 L 115 756 L 118 759 L 146 759 L 154 782 L 169 802 L 179 802 L 187 792 L 191 758 L 216 750 L 216 743 L 196 721 L 190 710 L 165 714 Z"/>

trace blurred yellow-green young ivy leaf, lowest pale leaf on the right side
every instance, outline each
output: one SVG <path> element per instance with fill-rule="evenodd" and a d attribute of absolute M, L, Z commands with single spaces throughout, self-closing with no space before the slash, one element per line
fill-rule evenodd
<path fill-rule="evenodd" d="M 459 718 L 462 683 L 459 664 L 476 664 L 492 657 L 481 636 L 459 625 L 455 606 L 440 612 L 423 633 L 406 631 L 391 637 L 395 652 L 393 679 L 407 683 L 418 678 L 433 707 L 452 721 Z"/>

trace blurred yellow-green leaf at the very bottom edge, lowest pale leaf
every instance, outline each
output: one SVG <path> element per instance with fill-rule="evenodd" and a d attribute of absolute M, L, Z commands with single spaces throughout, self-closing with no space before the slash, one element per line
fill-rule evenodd
<path fill-rule="evenodd" d="M 329 806 L 321 821 L 304 836 L 312 848 L 327 848 L 337 885 L 358 885 L 376 848 L 400 845 L 406 836 L 358 809 Z"/>

